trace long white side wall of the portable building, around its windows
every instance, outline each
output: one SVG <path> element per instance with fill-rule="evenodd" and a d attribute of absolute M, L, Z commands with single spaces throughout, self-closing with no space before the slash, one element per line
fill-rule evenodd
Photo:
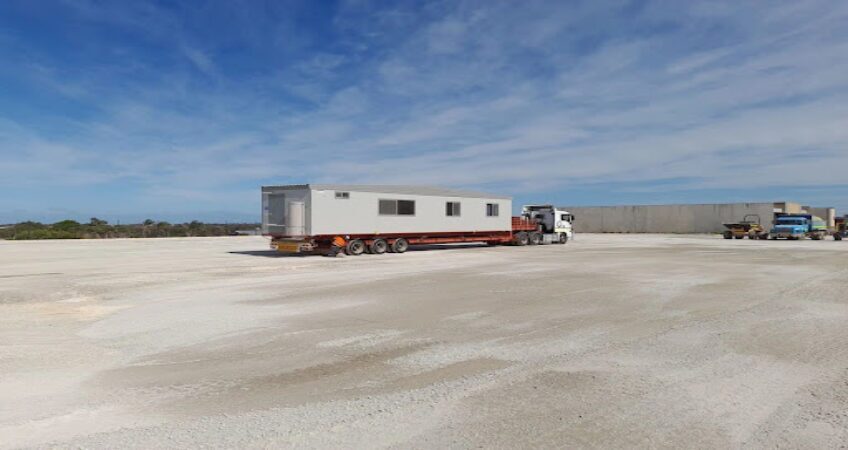
<path fill-rule="evenodd" d="M 311 192 L 310 234 L 388 234 L 466 231 L 506 231 L 512 228 L 512 200 L 408 195 L 376 192 L 350 192 L 350 198 L 337 199 L 336 191 Z M 414 216 L 379 214 L 379 200 L 414 200 Z M 447 216 L 446 202 L 461 204 L 460 215 Z M 499 205 L 497 217 L 486 216 L 486 204 Z"/>

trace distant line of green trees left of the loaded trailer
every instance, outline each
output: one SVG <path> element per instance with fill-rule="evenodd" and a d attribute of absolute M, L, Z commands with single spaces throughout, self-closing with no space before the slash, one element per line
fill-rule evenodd
<path fill-rule="evenodd" d="M 0 239 L 106 239 L 145 237 L 231 236 L 237 231 L 252 231 L 259 224 L 211 224 L 198 221 L 171 224 L 145 220 L 140 224 L 110 225 L 92 217 L 88 223 L 63 220 L 52 225 L 22 222 L 0 228 Z"/>

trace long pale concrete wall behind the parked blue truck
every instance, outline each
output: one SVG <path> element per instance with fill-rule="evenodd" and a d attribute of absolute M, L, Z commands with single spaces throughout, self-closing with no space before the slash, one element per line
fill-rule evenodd
<path fill-rule="evenodd" d="M 563 206 L 575 216 L 574 231 L 582 233 L 719 233 L 725 223 L 758 218 L 770 228 L 777 213 L 813 214 L 833 227 L 834 208 L 813 208 L 793 202 L 701 205 Z"/>

